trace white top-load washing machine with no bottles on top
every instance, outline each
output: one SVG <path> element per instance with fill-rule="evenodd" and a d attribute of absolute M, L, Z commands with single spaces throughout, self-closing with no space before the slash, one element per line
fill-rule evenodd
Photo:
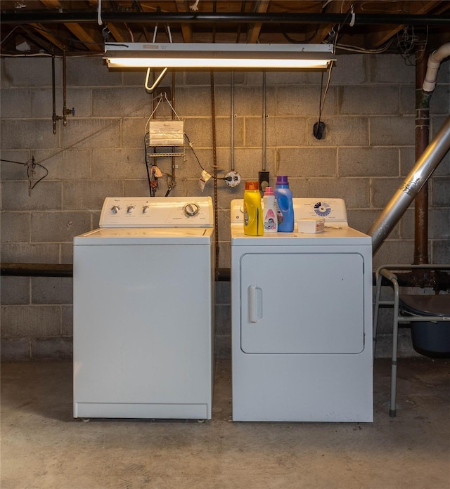
<path fill-rule="evenodd" d="M 211 419 L 211 197 L 108 197 L 74 238 L 74 417 Z"/>

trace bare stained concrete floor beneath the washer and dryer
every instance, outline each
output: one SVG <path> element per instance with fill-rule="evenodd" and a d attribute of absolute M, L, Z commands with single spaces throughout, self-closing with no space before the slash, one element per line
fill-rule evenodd
<path fill-rule="evenodd" d="M 72 364 L 1 366 L 1 489 L 450 487 L 450 360 L 375 363 L 375 422 L 233 423 L 229 362 L 212 421 L 72 419 Z"/>

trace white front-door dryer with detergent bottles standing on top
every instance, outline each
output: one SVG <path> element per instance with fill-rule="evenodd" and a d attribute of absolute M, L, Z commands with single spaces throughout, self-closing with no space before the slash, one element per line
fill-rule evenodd
<path fill-rule="evenodd" d="M 372 422 L 372 243 L 340 199 L 294 199 L 322 233 L 243 233 L 231 202 L 234 421 Z"/>

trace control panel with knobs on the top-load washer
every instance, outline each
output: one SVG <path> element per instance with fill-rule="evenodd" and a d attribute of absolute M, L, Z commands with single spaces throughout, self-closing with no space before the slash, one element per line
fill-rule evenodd
<path fill-rule="evenodd" d="M 101 228 L 212 228 L 211 197 L 106 197 Z"/>

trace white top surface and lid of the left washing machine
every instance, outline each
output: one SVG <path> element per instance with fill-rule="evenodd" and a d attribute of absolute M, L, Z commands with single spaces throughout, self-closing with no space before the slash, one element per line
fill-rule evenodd
<path fill-rule="evenodd" d="M 98 228 L 75 236 L 73 244 L 210 244 L 213 233 L 212 228 Z"/>

